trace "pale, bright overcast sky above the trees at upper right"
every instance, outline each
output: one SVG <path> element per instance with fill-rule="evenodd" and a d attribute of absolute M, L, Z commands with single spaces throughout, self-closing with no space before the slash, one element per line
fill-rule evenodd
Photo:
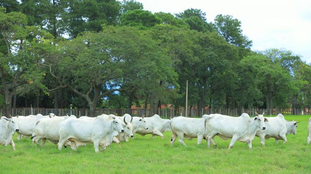
<path fill-rule="evenodd" d="M 152 13 L 200 9 L 207 22 L 217 14 L 232 15 L 254 51 L 286 49 L 311 63 L 311 0 L 136 0 Z"/>

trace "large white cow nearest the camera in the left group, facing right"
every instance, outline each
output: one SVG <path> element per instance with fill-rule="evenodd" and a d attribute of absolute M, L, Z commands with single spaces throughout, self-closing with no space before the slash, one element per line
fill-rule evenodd
<path fill-rule="evenodd" d="M 120 118 L 105 121 L 104 117 L 96 119 L 66 119 L 59 129 L 58 149 L 61 150 L 64 143 L 69 140 L 71 148 L 76 150 L 76 142 L 93 143 L 95 152 L 100 152 L 110 145 L 114 136 L 124 132 Z"/>

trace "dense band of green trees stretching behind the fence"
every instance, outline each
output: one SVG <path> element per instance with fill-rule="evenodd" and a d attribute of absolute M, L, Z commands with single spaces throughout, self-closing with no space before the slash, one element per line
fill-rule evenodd
<path fill-rule="evenodd" d="M 1 0 L 0 107 L 310 108 L 311 67 L 241 22 L 134 0 Z"/>

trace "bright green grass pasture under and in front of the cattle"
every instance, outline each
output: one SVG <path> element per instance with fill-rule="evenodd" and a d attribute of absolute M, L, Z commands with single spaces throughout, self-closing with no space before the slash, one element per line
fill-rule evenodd
<path fill-rule="evenodd" d="M 274 139 L 265 141 L 265 147 L 255 137 L 253 148 L 237 142 L 228 150 L 230 140 L 215 137 L 217 147 L 207 149 L 206 141 L 196 145 L 196 139 L 185 140 L 187 147 L 176 141 L 170 147 L 171 132 L 164 133 L 164 140 L 151 135 L 135 135 L 121 147 L 112 144 L 103 153 L 95 153 L 92 144 L 57 149 L 46 143 L 36 146 L 30 139 L 14 142 L 12 146 L 0 145 L 1 174 L 111 174 L 111 173 L 272 173 L 310 174 L 311 145 L 307 145 L 309 116 L 285 116 L 287 120 L 299 121 L 297 135 L 288 135 L 288 142 L 275 144 Z"/>

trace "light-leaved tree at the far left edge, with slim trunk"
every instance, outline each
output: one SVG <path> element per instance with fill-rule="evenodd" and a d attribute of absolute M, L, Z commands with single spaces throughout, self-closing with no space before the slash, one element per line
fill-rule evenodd
<path fill-rule="evenodd" d="M 27 53 L 27 46 L 37 43 L 42 37 L 38 28 L 26 27 L 26 16 L 21 13 L 5 13 L 5 8 L 0 7 L 0 35 L 1 43 L 5 50 L 0 52 L 0 74 L 3 96 L 5 99 L 4 111 L 6 115 L 11 112 L 12 96 L 41 87 L 43 74 L 38 69 L 36 55 Z M 30 36 L 31 34 L 31 36 Z M 26 37 L 34 38 L 32 42 Z M 21 43 L 21 40 L 25 42 Z M 29 47 L 28 47 L 29 48 Z M 14 51 L 13 51 L 14 50 Z"/>

